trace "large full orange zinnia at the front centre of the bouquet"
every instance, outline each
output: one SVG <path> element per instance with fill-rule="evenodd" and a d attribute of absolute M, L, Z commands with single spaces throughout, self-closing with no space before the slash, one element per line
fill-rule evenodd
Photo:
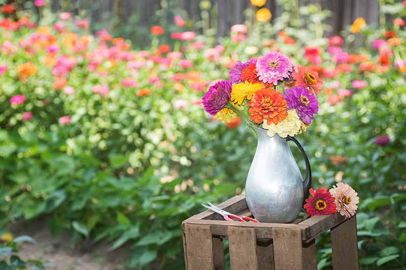
<path fill-rule="evenodd" d="M 288 116 L 286 107 L 288 104 L 283 99 L 282 94 L 275 89 L 264 88 L 255 92 L 251 100 L 248 101 L 248 112 L 250 119 L 256 124 L 261 124 L 264 120 L 278 124 Z"/>

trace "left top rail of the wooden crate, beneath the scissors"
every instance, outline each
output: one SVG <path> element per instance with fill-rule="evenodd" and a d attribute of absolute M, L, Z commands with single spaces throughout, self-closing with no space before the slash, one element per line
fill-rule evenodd
<path fill-rule="evenodd" d="M 224 209 L 230 213 L 238 213 L 248 209 L 247 202 L 245 201 L 245 196 L 239 195 L 234 196 L 231 199 L 217 205 L 218 208 Z M 203 207 L 201 207 L 203 208 Z M 213 219 L 213 220 L 222 220 L 223 217 L 213 211 L 206 210 L 197 215 L 191 216 L 188 219 Z"/>

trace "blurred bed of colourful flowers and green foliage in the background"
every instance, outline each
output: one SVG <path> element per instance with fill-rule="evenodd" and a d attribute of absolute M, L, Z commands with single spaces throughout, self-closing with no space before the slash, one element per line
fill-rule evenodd
<path fill-rule="evenodd" d="M 69 13 L 35 25 L 29 15 L 9 20 L 13 11 L 5 7 L 3 225 L 46 216 L 54 233 L 75 232 L 74 242 L 126 244 L 130 268 L 154 261 L 183 267 L 181 221 L 202 202 L 241 194 L 256 143 L 239 118 L 226 125 L 209 118 L 201 97 L 228 78 L 235 61 L 279 49 L 325 82 L 311 132 L 297 136 L 314 187 L 343 181 L 358 191 L 362 267 L 406 265 L 402 3 L 386 6 L 395 20 L 367 25 L 358 18 L 345 38 L 323 37 L 330 14 L 316 5 L 300 7 L 294 28 L 288 8 L 272 25 L 264 8 L 248 10 L 252 20 L 234 25 L 220 45 L 175 17 L 173 43 L 160 43 L 165 27 L 156 25 L 142 51 L 106 30 L 90 34 L 88 22 Z M 330 267 L 329 237 L 317 245 L 319 268 Z"/>

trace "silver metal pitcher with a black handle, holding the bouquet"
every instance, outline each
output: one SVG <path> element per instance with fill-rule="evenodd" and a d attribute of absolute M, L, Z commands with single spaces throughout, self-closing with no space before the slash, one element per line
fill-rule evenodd
<path fill-rule="evenodd" d="M 311 168 L 300 143 L 288 136 L 269 137 L 266 130 L 253 127 L 258 145 L 248 172 L 245 196 L 248 208 L 260 222 L 289 223 L 303 207 L 303 198 L 309 197 Z M 290 151 L 288 141 L 300 148 L 306 162 L 306 179 Z"/>

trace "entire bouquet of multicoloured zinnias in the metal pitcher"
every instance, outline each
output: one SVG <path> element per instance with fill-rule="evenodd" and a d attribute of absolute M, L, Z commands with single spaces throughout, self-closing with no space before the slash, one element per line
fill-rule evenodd
<path fill-rule="evenodd" d="M 236 62 L 229 77 L 211 86 L 202 99 L 206 111 L 222 122 L 239 116 L 266 129 L 269 137 L 286 138 L 306 130 L 318 111 L 315 95 L 323 87 L 318 73 L 294 67 L 278 51 Z"/>

